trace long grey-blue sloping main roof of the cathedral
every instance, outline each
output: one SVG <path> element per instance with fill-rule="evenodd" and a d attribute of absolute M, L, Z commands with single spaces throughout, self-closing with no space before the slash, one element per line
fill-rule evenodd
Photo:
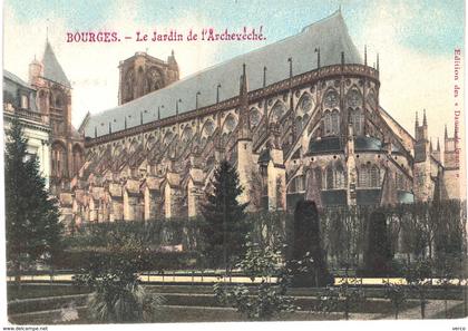
<path fill-rule="evenodd" d="M 238 95 L 238 78 L 242 65 L 246 65 L 246 76 L 251 90 L 263 87 L 263 68 L 266 67 L 266 85 L 289 78 L 289 58 L 292 58 L 293 75 L 300 75 L 316 68 L 315 48 L 320 48 L 321 65 L 341 64 L 341 52 L 344 52 L 348 64 L 361 64 L 361 57 L 352 42 L 344 19 L 340 11 L 330 17 L 305 27 L 300 33 L 264 46 L 247 53 L 237 56 L 220 65 L 206 68 L 163 89 L 150 93 L 138 99 L 120 105 L 113 109 L 91 115 L 85 124 L 85 135 L 103 136 L 125 127 L 140 125 L 157 119 L 158 106 L 160 118 L 176 114 L 176 100 L 179 113 L 194 110 L 196 93 L 199 91 L 198 106 L 205 107 L 216 103 L 216 87 L 220 88 L 220 100 L 226 100 Z M 146 111 L 145 111 L 146 110 Z M 131 116 L 131 117 L 130 117 Z"/>

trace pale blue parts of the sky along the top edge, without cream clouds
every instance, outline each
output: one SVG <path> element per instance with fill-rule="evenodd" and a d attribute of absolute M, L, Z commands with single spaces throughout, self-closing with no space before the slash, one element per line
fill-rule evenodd
<path fill-rule="evenodd" d="M 400 27 L 398 37 L 402 45 L 420 51 L 443 53 L 451 52 L 464 38 L 464 0 L 142 0 L 135 2 L 138 3 L 135 20 L 143 26 L 157 26 L 188 13 L 203 17 L 205 21 L 218 28 L 242 27 L 247 18 L 251 25 L 257 22 L 269 28 L 270 41 L 296 33 L 304 26 L 329 16 L 340 3 L 351 35 L 359 36 L 365 28 L 361 22 L 369 12 L 379 10 L 383 3 L 390 7 L 403 3 L 413 11 L 413 16 L 409 23 L 406 22 Z M 64 18 L 71 30 L 104 27 L 113 19 L 120 4 L 118 1 L 103 0 L 9 0 L 7 3 L 25 20 L 45 18 L 53 22 L 56 18 Z M 235 47 L 228 47 L 224 53 L 231 57 L 233 51 L 236 51 Z"/>

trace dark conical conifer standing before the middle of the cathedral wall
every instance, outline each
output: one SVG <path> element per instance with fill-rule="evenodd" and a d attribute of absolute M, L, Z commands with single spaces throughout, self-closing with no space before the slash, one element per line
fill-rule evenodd
<path fill-rule="evenodd" d="M 227 160 L 215 169 L 211 184 L 212 189 L 206 193 L 202 204 L 206 221 L 202 230 L 206 243 L 204 251 L 214 266 L 223 261 L 227 272 L 228 264 L 244 251 L 245 236 L 250 231 L 245 222 L 247 204 L 237 201 L 243 188 L 237 172 Z"/>

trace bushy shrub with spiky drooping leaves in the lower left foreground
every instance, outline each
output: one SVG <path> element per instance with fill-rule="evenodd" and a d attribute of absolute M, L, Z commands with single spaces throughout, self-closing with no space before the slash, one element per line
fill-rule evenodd
<path fill-rule="evenodd" d="M 94 288 L 88 315 L 97 322 L 154 322 L 163 296 L 146 292 L 138 272 L 150 259 L 144 240 L 119 231 L 106 235 L 108 252 L 89 262 L 75 278 L 78 285 Z M 110 254 L 109 254 L 110 252 Z"/>

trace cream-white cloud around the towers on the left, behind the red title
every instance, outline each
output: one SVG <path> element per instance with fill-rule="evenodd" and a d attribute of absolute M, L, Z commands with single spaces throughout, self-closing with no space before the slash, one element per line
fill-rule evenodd
<path fill-rule="evenodd" d="M 118 31 L 119 36 L 134 36 L 144 32 L 145 26 L 138 22 L 136 2 L 116 3 L 113 17 L 100 25 L 99 30 Z M 64 18 L 38 18 L 23 21 L 6 3 L 4 8 L 4 67 L 25 80 L 28 79 L 28 65 L 35 55 L 42 58 L 46 29 L 49 26 L 49 41 L 56 56 L 72 85 L 72 123 L 79 126 L 87 111 L 97 113 L 115 107 L 118 96 L 118 64 L 136 51 L 165 60 L 174 49 L 181 69 L 181 78 L 214 64 L 220 56 L 220 45 L 197 42 L 145 42 L 134 40 L 118 43 L 67 43 L 66 33 L 76 32 L 67 27 Z M 196 14 L 177 16 L 160 25 L 150 26 L 164 32 L 176 28 L 181 32 L 207 27 L 204 17 Z"/>

